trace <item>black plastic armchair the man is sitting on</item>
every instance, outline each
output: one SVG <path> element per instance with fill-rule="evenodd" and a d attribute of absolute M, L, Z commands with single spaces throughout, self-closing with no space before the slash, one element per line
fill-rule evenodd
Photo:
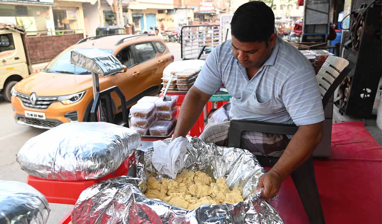
<path fill-rule="evenodd" d="M 349 62 L 340 57 L 329 56 L 322 65 L 316 78 L 322 97 L 322 105 L 327 105 L 335 89 L 353 68 Z M 228 132 L 228 146 L 240 148 L 241 133 L 243 131 L 258 131 L 282 135 L 294 135 L 298 127 L 294 124 L 256 122 L 248 120 L 231 120 Z M 273 167 L 278 157 L 256 156 L 264 167 Z M 291 173 L 297 192 L 301 198 L 310 223 L 325 223 L 324 214 L 320 203 L 316 177 L 314 176 L 313 157 L 304 162 L 298 169 Z"/>

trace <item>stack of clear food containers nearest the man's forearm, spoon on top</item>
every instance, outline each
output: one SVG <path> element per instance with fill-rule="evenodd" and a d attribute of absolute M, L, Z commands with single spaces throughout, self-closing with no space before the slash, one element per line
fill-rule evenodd
<path fill-rule="evenodd" d="M 157 120 L 149 128 L 150 135 L 167 136 L 170 134 L 170 131 L 175 126 L 176 115 L 178 114 L 177 101 L 178 96 L 171 96 L 171 101 L 163 101 L 162 97 L 155 101 Z"/>

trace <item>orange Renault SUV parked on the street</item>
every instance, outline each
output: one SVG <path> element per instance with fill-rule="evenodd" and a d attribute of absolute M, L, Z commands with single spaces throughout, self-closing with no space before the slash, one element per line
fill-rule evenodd
<path fill-rule="evenodd" d="M 11 90 L 16 123 L 53 128 L 65 122 L 89 120 L 93 102 L 91 73 L 70 64 L 75 49 L 97 48 L 115 55 L 125 73 L 99 76 L 100 90 L 118 86 L 127 107 L 143 96 L 160 92 L 163 69 L 174 61 L 163 40 L 151 35 L 111 35 L 82 39 L 55 57 L 44 70 L 28 76 Z M 122 111 L 120 98 L 112 93 L 114 114 Z"/>

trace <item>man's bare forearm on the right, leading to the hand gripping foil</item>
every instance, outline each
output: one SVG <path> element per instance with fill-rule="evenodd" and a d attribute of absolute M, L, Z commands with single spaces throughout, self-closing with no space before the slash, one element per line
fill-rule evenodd
<path fill-rule="evenodd" d="M 279 174 L 284 180 L 311 156 L 320 143 L 323 132 L 324 122 L 300 126 L 283 155 L 271 170 Z"/>

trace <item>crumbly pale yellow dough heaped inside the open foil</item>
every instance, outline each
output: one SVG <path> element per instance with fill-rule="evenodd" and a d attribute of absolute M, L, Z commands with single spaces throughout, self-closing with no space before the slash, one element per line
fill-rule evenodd
<path fill-rule="evenodd" d="M 202 204 L 235 204 L 243 201 L 240 190 L 230 190 L 224 178 L 214 183 L 206 173 L 187 170 L 176 175 L 175 180 L 162 178 L 162 183 L 150 177 L 145 195 L 185 209 L 196 209 Z"/>

